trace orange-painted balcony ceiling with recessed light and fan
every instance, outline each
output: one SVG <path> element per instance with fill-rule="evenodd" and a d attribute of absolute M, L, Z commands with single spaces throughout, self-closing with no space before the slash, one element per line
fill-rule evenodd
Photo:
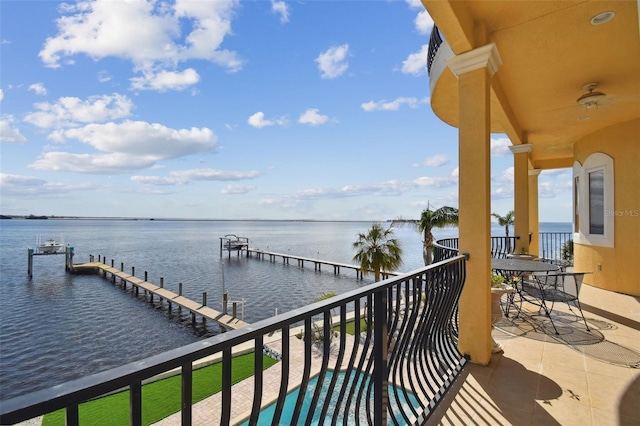
<path fill-rule="evenodd" d="M 637 1 L 423 3 L 454 53 L 496 44 L 503 63 L 491 83 L 492 132 L 533 144 L 533 167 L 571 167 L 576 140 L 640 118 Z M 607 11 L 615 12 L 609 22 L 590 23 Z M 587 83 L 606 94 L 593 108 L 577 103 Z M 456 78 L 445 70 L 431 102 L 454 126 L 457 93 Z"/>

